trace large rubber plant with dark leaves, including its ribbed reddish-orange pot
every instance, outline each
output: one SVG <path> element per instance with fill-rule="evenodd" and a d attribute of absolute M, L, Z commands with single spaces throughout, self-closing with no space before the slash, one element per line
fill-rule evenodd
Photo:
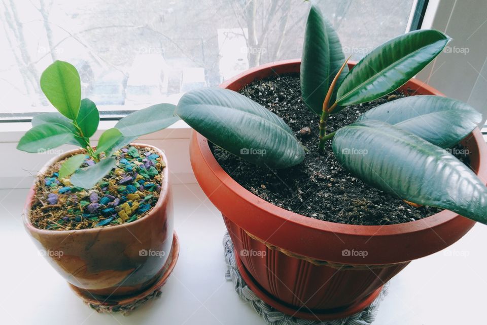
<path fill-rule="evenodd" d="M 437 30 L 413 31 L 347 66 L 336 32 L 311 6 L 301 62 L 267 64 L 221 86 L 231 90 L 194 90 L 180 100 L 177 114 L 197 132 L 196 179 L 222 212 L 240 273 L 262 300 L 301 318 L 354 314 L 410 261 L 454 243 L 475 221 L 487 223 L 480 114 L 411 79 L 448 41 Z M 307 113 L 286 109 L 302 106 L 299 94 L 271 83 L 299 72 Z M 249 84 L 252 99 L 235 92 Z M 280 107 L 288 123 L 253 99 Z M 471 169 L 452 147 L 468 152 Z M 318 190 L 301 187 L 311 183 Z M 295 212 L 308 204 L 315 209 Z M 365 222 L 370 216 L 380 222 Z"/>

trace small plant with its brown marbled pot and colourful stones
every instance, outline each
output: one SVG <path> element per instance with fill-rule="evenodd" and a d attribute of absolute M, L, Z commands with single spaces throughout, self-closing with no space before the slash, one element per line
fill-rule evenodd
<path fill-rule="evenodd" d="M 154 295 L 176 264 L 172 194 L 160 149 L 130 144 L 172 124 L 174 106 L 136 111 L 90 143 L 99 112 L 81 100 L 78 71 L 55 61 L 41 88 L 58 112 L 34 116 L 18 149 L 78 149 L 51 159 L 27 197 L 23 222 L 49 263 L 97 310 L 127 310 Z"/>

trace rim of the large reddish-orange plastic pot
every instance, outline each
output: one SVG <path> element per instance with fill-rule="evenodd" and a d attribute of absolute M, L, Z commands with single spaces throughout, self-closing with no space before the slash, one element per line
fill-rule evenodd
<path fill-rule="evenodd" d="M 269 69 L 273 71 L 272 68 L 275 66 L 284 66 L 284 65 L 293 66 L 296 64 L 300 64 L 300 62 L 301 62 L 300 59 L 291 59 L 291 60 L 282 60 L 282 61 L 263 64 L 259 67 L 249 69 L 237 75 L 236 77 L 226 81 L 225 83 L 220 85 L 220 88 L 232 89 L 232 85 L 235 85 L 236 88 L 240 84 L 239 80 L 242 79 L 243 77 L 255 74 L 256 72 L 263 72 Z M 349 67 L 353 67 L 355 66 L 355 64 L 356 62 L 349 61 Z M 258 78 L 256 78 L 255 80 L 257 79 Z M 435 95 L 445 96 L 443 93 L 439 92 L 435 88 L 414 78 L 410 79 L 406 83 L 406 85 L 409 86 L 413 85 L 415 86 L 416 89 L 422 88 Z M 474 151 L 477 151 L 479 156 L 479 164 L 477 170 L 475 170 L 475 174 L 477 175 L 477 177 L 481 179 L 481 181 L 484 184 L 486 184 L 487 183 L 487 159 L 481 159 L 481 157 L 487 156 L 487 146 L 481 146 L 481 145 L 479 146 L 479 143 L 483 142 L 483 137 L 478 128 L 475 128 L 474 131 L 471 133 L 471 136 L 467 136 L 465 139 L 469 139 L 470 137 L 474 138 L 473 140 L 474 140 L 475 147 L 472 149 Z M 250 204 L 253 204 L 257 209 L 260 209 L 262 212 L 272 215 L 273 217 L 282 219 L 283 222 L 291 222 L 313 230 L 333 232 L 337 235 L 342 234 L 342 235 L 375 237 L 375 236 L 406 235 L 408 233 L 413 233 L 413 232 L 422 232 L 425 230 L 434 229 L 438 226 L 441 226 L 442 224 L 450 222 L 455 218 L 464 218 L 463 216 L 460 216 L 457 213 L 449 210 L 443 210 L 439 213 L 436 213 L 434 215 L 431 215 L 429 217 L 420 220 L 410 221 L 406 223 L 389 224 L 389 225 L 355 225 L 355 224 L 323 221 L 323 220 L 307 217 L 283 209 L 281 207 L 275 206 L 257 197 L 255 194 L 253 194 L 252 192 L 250 192 L 249 190 L 241 186 L 239 183 L 237 183 L 230 175 L 228 175 L 223 170 L 223 168 L 220 166 L 220 164 L 218 164 L 213 153 L 211 152 L 206 138 L 204 138 L 196 131 L 193 131 L 193 140 L 197 143 L 199 150 L 201 151 L 203 160 L 208 165 L 208 167 L 215 175 L 215 177 L 221 182 L 222 186 L 227 187 L 229 190 L 234 192 L 242 200 L 245 200 Z"/>

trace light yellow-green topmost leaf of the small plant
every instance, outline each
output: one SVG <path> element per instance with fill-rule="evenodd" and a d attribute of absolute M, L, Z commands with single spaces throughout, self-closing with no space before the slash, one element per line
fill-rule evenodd
<path fill-rule="evenodd" d="M 81 105 L 81 81 L 76 68 L 55 61 L 41 75 L 41 89 L 51 104 L 69 119 L 75 120 Z"/>

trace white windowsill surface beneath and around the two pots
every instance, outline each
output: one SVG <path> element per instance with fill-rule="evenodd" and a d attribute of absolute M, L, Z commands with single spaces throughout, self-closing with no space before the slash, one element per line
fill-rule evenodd
<path fill-rule="evenodd" d="M 226 230 L 219 211 L 197 184 L 174 185 L 173 192 L 179 261 L 160 298 L 123 316 L 98 314 L 74 295 L 23 229 L 20 215 L 27 190 L 0 190 L 0 323 L 264 325 L 250 304 L 238 298 L 232 282 L 225 281 Z M 476 225 L 444 251 L 413 261 L 390 281 L 373 325 L 481 323 L 486 237 L 487 226 Z"/>

